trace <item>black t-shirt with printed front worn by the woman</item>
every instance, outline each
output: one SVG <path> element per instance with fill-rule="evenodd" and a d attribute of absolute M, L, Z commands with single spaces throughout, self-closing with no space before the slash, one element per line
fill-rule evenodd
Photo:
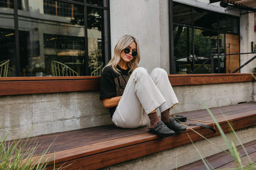
<path fill-rule="evenodd" d="M 107 66 L 103 69 L 100 78 L 101 100 L 123 95 L 127 81 L 130 78 L 130 69 L 123 70 L 118 65 L 117 69 L 121 71 L 120 74 L 116 73 L 111 66 Z M 109 113 L 111 117 L 113 116 L 115 110 L 116 106 L 109 108 Z"/>

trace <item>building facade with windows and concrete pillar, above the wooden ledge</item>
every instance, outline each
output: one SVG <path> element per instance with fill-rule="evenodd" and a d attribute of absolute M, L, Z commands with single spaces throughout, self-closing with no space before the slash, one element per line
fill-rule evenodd
<path fill-rule="evenodd" d="M 58 76 L 52 61 L 65 64 L 61 71 L 92 75 L 130 34 L 148 71 L 233 73 L 254 56 L 247 54 L 253 52 L 254 12 L 210 2 L 4 0 L 1 61 L 10 60 L 8 77 Z M 236 72 L 253 72 L 254 65 Z"/>

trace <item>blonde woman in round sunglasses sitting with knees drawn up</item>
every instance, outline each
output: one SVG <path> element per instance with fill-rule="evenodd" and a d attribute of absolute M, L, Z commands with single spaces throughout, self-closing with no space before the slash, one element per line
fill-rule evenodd
<path fill-rule="evenodd" d="M 186 131 L 170 116 L 178 104 L 167 73 L 154 69 L 149 75 L 138 67 L 140 51 L 137 39 L 123 36 L 114 49 L 114 57 L 101 74 L 100 99 L 109 108 L 114 124 L 120 128 L 138 128 L 150 123 L 149 132 L 172 136 Z M 156 113 L 159 108 L 161 119 Z"/>

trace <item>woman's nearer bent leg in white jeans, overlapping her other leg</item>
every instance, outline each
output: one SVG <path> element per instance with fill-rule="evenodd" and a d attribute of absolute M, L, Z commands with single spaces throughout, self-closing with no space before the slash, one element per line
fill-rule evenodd
<path fill-rule="evenodd" d="M 131 74 L 112 120 L 121 128 L 145 126 L 149 124 L 147 114 L 163 103 L 165 99 L 148 72 L 139 67 Z"/>

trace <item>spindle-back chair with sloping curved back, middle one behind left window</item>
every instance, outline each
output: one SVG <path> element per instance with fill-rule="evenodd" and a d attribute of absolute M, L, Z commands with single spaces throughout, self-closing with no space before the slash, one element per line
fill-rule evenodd
<path fill-rule="evenodd" d="M 76 71 L 63 63 L 51 61 L 51 67 L 53 76 L 78 76 Z"/>

